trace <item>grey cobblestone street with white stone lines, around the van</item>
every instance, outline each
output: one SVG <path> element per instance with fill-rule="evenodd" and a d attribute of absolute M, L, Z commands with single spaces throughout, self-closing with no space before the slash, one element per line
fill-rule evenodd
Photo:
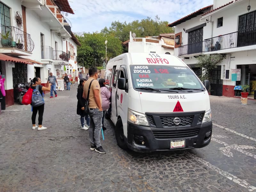
<path fill-rule="evenodd" d="M 210 96 L 212 141 L 200 149 L 124 151 L 105 120 L 99 154 L 81 130 L 76 88 L 45 94 L 46 130 L 32 130 L 30 105 L 2 111 L 0 191 L 256 191 L 256 100 Z"/>

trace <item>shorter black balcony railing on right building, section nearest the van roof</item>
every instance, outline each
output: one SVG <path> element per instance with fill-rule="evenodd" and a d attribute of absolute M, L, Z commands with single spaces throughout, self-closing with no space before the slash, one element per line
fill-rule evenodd
<path fill-rule="evenodd" d="M 182 45 L 179 47 L 179 56 L 207 52 L 209 46 L 209 41 L 199 41 L 197 43 Z"/>

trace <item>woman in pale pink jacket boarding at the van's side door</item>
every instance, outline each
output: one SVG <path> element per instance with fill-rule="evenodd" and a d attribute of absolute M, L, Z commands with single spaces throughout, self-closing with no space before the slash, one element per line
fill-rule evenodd
<path fill-rule="evenodd" d="M 106 127 L 104 127 L 103 123 L 104 123 L 104 115 L 105 115 L 105 111 L 109 108 L 109 104 L 110 104 L 110 96 L 111 96 L 111 92 L 108 91 L 108 88 L 105 87 L 106 85 L 106 81 L 105 79 L 100 79 L 99 80 L 99 84 L 100 84 L 100 95 L 101 95 L 101 100 L 102 100 L 102 110 L 103 110 L 103 116 L 102 116 L 102 129 L 106 130 Z"/>

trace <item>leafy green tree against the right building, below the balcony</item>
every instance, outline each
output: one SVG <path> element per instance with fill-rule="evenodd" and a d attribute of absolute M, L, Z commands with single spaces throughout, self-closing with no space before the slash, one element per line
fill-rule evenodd
<path fill-rule="evenodd" d="M 202 68 L 202 75 L 199 77 L 203 82 L 204 80 L 212 80 L 212 73 L 217 65 L 225 58 L 225 55 L 202 55 L 197 57 L 196 67 Z"/>

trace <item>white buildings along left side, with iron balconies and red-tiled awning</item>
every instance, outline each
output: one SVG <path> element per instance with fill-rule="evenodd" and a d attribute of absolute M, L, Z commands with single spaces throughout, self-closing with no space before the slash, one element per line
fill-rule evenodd
<path fill-rule="evenodd" d="M 68 0 L 0 0 L 0 72 L 5 76 L 5 103 L 15 89 L 35 76 L 45 85 L 49 73 L 77 80 L 77 38 L 64 14 L 74 14 Z M 6 43 L 6 41 L 8 41 Z"/>

